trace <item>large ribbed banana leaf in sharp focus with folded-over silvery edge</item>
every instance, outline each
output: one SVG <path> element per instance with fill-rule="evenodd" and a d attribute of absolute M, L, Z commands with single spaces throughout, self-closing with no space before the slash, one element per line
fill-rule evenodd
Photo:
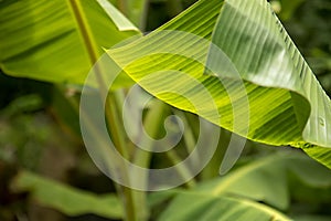
<path fill-rule="evenodd" d="M 331 168 L 330 98 L 265 0 L 201 0 L 108 54 L 170 105 Z"/>

